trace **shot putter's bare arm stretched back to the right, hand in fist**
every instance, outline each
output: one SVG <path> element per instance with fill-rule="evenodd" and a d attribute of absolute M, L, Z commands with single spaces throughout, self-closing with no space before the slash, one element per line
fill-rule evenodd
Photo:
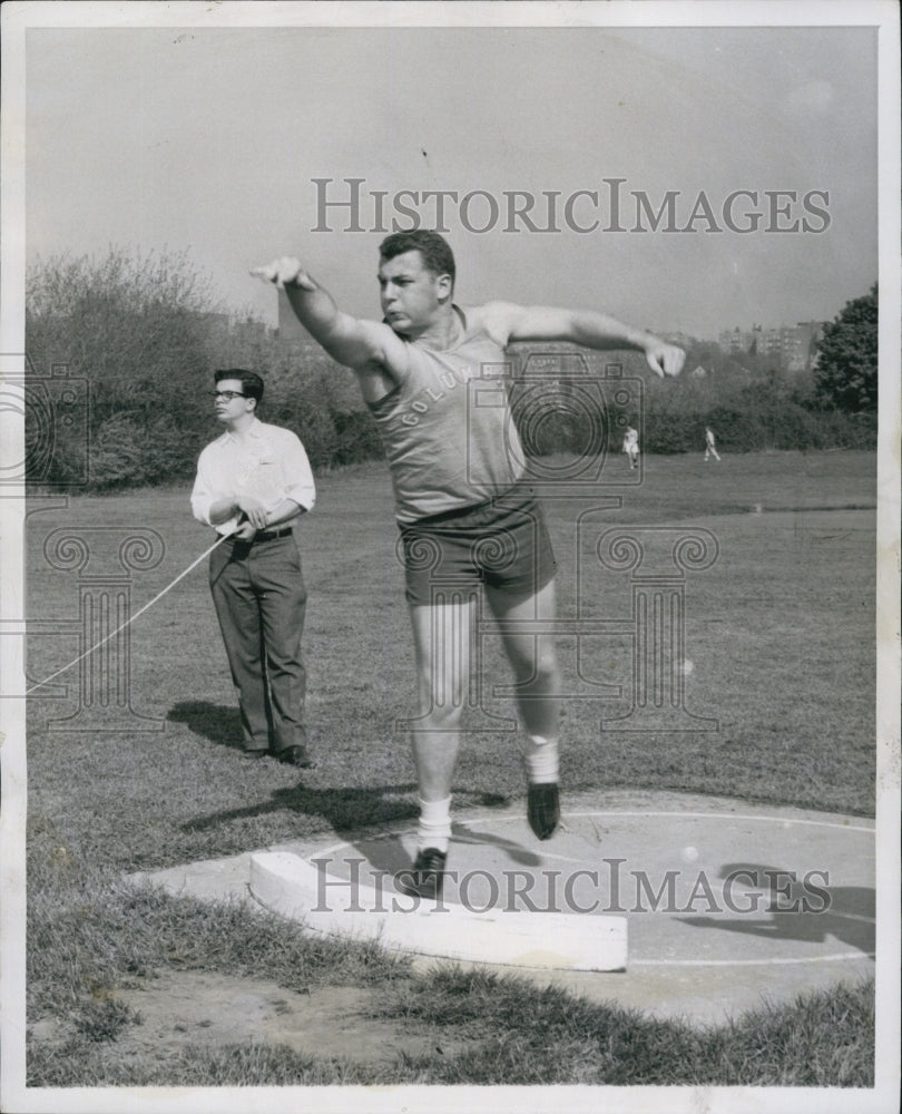
<path fill-rule="evenodd" d="M 490 331 L 508 341 L 571 341 L 584 348 L 637 349 L 658 375 L 678 375 L 686 353 L 676 344 L 633 329 L 594 310 L 559 310 L 545 305 L 490 302 L 482 307 Z"/>

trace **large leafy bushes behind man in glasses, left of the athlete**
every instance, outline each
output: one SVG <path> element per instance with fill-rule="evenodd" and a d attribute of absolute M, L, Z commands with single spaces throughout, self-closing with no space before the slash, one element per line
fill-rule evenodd
<path fill-rule="evenodd" d="M 112 247 L 102 258 L 37 260 L 26 286 L 26 354 L 32 482 L 189 482 L 200 448 L 222 432 L 209 397 L 215 368 L 259 372 L 263 420 L 293 429 L 314 467 L 382 456 L 351 373 L 312 342 L 274 336 L 249 311 L 226 313 L 186 253 Z M 58 372 L 68 378 L 52 380 Z M 41 389 L 47 382 L 53 390 Z M 78 409 L 67 404 L 57 420 L 55 400 L 72 394 L 72 383 Z"/>

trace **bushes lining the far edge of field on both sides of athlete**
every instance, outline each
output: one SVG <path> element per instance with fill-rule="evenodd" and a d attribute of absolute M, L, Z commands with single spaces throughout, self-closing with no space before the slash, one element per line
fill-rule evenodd
<path fill-rule="evenodd" d="M 217 432 L 208 398 L 216 368 L 263 375 L 261 419 L 294 430 L 314 469 L 384 456 L 353 375 L 312 340 L 286 341 L 251 313 L 220 312 L 184 254 L 141 256 L 112 248 L 99 262 L 38 261 L 28 273 L 26 330 L 32 383 L 26 467 L 32 480 L 50 488 L 81 482 L 75 471 L 86 443 L 87 490 L 190 480 L 197 455 Z M 543 348 L 513 346 L 514 381 L 527 355 Z M 558 354 L 563 368 L 566 353 Z M 626 424 L 640 427 L 645 452 L 702 452 L 706 426 L 731 452 L 876 443 L 875 414 L 817 409 L 823 395 L 815 394 L 814 377 L 783 377 L 762 361 L 743 367 L 716 345 L 698 345 L 687 360 L 687 369 L 704 364 L 704 375 L 684 373 L 678 380 L 651 375 L 638 352 L 587 359 L 598 373 L 612 362 L 626 379 L 643 380 L 641 416 L 635 401 L 627 403 L 631 410 L 618 409 L 616 392 L 607 387 L 605 414 L 571 408 L 566 391 L 550 390 L 543 401 L 535 383 L 519 397 L 514 387 L 514 420 L 527 453 L 582 456 L 601 451 L 605 436 L 616 442 L 607 451 L 619 452 Z M 73 379 L 88 381 L 89 404 L 70 408 L 75 422 L 66 429 L 57 423 L 56 436 L 48 438 L 56 395 L 41 379 L 60 364 Z M 553 372 L 549 375 L 551 385 Z"/>

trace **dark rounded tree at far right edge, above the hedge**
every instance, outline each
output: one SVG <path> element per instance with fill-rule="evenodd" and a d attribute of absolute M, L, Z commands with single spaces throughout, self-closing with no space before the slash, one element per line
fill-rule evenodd
<path fill-rule="evenodd" d="M 878 284 L 824 328 L 814 367 L 817 399 L 851 413 L 878 408 Z"/>

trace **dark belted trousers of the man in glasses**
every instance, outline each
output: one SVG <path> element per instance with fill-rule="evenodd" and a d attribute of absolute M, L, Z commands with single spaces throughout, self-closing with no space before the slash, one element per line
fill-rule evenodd
<path fill-rule="evenodd" d="M 277 754 L 304 745 L 307 593 L 294 535 L 226 539 L 210 554 L 209 585 L 238 690 L 245 750 Z"/>

